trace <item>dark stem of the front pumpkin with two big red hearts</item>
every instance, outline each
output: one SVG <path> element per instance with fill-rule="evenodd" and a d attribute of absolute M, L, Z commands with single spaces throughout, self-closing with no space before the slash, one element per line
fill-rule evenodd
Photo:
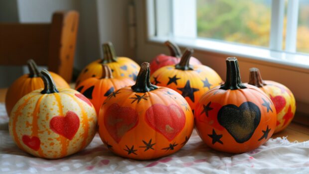
<path fill-rule="evenodd" d="M 144 62 L 141 65 L 140 72 L 136 79 L 135 85 L 131 87 L 134 92 L 149 92 L 157 89 L 157 86 L 150 83 L 150 67 L 148 62 Z"/>

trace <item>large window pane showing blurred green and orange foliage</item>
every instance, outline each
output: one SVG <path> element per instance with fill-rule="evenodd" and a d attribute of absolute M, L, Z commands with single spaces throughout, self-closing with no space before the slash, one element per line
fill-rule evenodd
<path fill-rule="evenodd" d="M 197 35 L 269 46 L 271 0 L 197 0 Z"/>

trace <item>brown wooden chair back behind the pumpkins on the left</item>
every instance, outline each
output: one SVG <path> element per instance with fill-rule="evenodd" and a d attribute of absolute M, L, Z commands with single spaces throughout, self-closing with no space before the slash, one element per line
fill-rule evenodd
<path fill-rule="evenodd" d="M 51 23 L 0 23 L 0 65 L 25 65 L 30 58 L 70 82 L 79 13 L 54 12 Z"/>

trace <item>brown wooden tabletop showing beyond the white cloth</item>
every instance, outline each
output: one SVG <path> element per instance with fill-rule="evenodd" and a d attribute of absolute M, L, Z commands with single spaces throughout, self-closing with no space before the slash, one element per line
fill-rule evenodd
<path fill-rule="evenodd" d="M 70 84 L 70 86 L 74 86 L 74 84 Z M 5 88 L 0 88 L 0 102 L 4 102 L 5 100 Z M 273 138 L 277 137 L 287 137 L 287 139 L 290 142 L 298 141 L 298 142 L 304 142 L 309 140 L 309 127 L 303 126 L 301 124 L 292 122 L 288 128 L 286 128 L 284 131 L 281 131 L 275 135 L 273 135 Z"/>

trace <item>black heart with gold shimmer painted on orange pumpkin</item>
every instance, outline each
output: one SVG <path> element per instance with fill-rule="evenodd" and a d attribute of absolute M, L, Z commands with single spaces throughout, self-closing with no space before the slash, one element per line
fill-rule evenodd
<path fill-rule="evenodd" d="M 248 141 L 261 121 L 261 111 L 252 102 L 244 102 L 239 107 L 229 104 L 218 112 L 218 122 L 237 143 Z"/>

